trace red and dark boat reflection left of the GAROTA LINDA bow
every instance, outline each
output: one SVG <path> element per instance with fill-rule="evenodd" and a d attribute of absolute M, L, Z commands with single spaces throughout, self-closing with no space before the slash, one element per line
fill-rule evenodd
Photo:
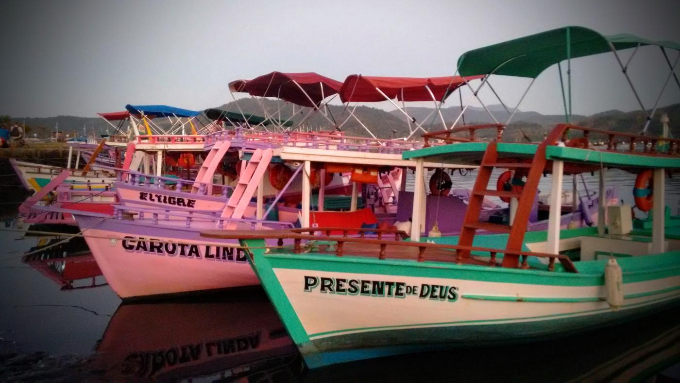
<path fill-rule="evenodd" d="M 80 237 L 57 244 L 63 239 L 39 239 L 38 246 L 22 257 L 22 262 L 61 286 L 62 290 L 78 290 L 105 286 L 97 261 Z M 44 250 L 41 250 L 44 248 Z"/>

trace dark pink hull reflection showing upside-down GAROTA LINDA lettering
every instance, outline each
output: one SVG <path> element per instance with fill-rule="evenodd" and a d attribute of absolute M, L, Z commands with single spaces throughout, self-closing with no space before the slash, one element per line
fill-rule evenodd
<path fill-rule="evenodd" d="M 291 374 L 302 369 L 260 288 L 123 303 L 96 350 L 95 363 L 114 380 L 295 380 Z"/>

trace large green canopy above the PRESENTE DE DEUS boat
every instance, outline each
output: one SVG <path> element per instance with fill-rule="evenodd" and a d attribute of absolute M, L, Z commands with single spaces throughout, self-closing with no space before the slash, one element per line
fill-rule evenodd
<path fill-rule="evenodd" d="M 545 69 L 567 59 L 637 46 L 680 50 L 674 41 L 651 41 L 628 33 L 602 35 L 584 27 L 563 27 L 469 50 L 458 59 L 458 73 L 537 78 Z"/>

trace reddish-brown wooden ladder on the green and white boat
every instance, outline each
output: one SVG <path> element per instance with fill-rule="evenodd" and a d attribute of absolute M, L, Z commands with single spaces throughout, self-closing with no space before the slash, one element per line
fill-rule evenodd
<path fill-rule="evenodd" d="M 545 159 L 545 148 L 551 137 L 548 137 L 542 144 L 539 144 L 536 154 L 531 163 L 515 163 L 515 162 L 499 162 L 498 159 L 498 144 L 492 142 L 486 148 L 481 159 L 479 173 L 475 186 L 473 186 L 472 195 L 470 196 L 468 209 L 463 220 L 462 231 L 458 239 L 460 246 L 473 246 L 475 233 L 477 230 L 486 230 L 496 233 L 509 233 L 505 250 L 508 252 L 503 256 L 503 267 L 517 267 L 520 255 L 513 254 L 514 252 L 522 251 L 522 244 L 524 243 L 524 235 L 526 227 L 529 222 L 529 215 L 531 213 L 532 205 L 539 188 L 539 181 L 543 175 L 543 170 L 547 160 Z M 552 140 L 554 142 L 554 140 Z M 491 173 L 494 168 L 500 167 L 505 169 L 514 169 L 515 171 L 529 169 L 526 176 L 526 183 L 521 192 L 513 190 L 489 190 L 488 184 L 491 178 Z M 486 196 L 517 198 L 517 212 L 515 213 L 515 220 L 511 224 L 498 224 L 492 222 L 480 222 L 479 215 L 481 207 Z M 470 257 L 470 250 L 459 250 L 462 258 Z"/>

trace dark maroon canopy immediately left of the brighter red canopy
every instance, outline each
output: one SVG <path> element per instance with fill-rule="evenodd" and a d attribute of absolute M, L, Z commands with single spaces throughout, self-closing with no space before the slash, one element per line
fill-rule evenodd
<path fill-rule="evenodd" d="M 234 92 L 245 92 L 258 97 L 277 97 L 307 107 L 318 107 L 326 97 L 338 93 L 341 86 L 341 82 L 313 72 L 271 72 L 252 80 L 229 83 L 229 88 Z"/>

